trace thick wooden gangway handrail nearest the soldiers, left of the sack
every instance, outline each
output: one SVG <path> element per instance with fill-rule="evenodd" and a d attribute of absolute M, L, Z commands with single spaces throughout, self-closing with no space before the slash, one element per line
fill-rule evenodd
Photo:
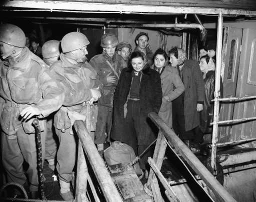
<path fill-rule="evenodd" d="M 74 122 L 74 128 L 81 141 L 88 160 L 93 168 L 96 178 L 100 184 L 101 190 L 108 202 L 122 202 L 122 198 L 111 178 L 107 167 L 104 164 L 89 132 L 82 120 Z"/>

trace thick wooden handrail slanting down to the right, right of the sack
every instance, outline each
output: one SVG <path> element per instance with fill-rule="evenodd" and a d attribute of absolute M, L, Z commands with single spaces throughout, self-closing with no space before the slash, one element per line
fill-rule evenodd
<path fill-rule="evenodd" d="M 210 171 L 201 163 L 201 161 L 192 153 L 192 151 L 181 141 L 175 132 L 155 113 L 149 113 L 151 120 L 161 128 L 164 136 L 170 143 L 179 149 L 181 156 L 186 160 L 190 167 L 198 174 L 205 184 L 211 189 L 218 201 L 235 202 L 236 200 L 228 191 L 218 182 Z"/>

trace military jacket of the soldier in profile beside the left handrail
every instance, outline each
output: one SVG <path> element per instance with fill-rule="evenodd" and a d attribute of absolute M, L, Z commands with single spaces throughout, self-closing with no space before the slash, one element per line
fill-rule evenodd
<path fill-rule="evenodd" d="M 98 79 L 94 68 L 87 61 L 74 64 L 63 53 L 60 55 L 60 60 L 53 63 L 50 68 L 51 72 L 56 73 L 57 80 L 65 89 L 63 106 L 54 117 L 54 126 L 64 131 L 72 126 L 68 112 L 86 115 L 86 101 L 92 98 L 90 88 L 97 88 L 101 91 L 103 84 Z M 93 118 L 97 119 L 94 116 Z"/>

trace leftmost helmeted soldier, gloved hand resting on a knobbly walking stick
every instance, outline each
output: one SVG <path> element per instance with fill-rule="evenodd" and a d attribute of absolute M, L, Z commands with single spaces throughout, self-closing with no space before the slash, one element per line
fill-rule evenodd
<path fill-rule="evenodd" d="M 7 180 L 24 184 L 27 170 L 31 197 L 38 195 L 37 152 L 34 117 L 41 128 L 42 155 L 45 158 L 47 117 L 64 101 L 64 90 L 52 77 L 42 59 L 25 46 L 23 30 L 14 24 L 0 25 L 0 103 L 3 165 Z"/>

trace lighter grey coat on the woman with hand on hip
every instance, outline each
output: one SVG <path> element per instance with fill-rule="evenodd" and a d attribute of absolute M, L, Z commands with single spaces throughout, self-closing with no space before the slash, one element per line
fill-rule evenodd
<path fill-rule="evenodd" d="M 151 68 L 154 68 L 154 65 L 152 65 Z M 173 66 L 166 65 L 160 75 L 163 98 L 158 115 L 172 128 L 172 100 L 177 98 L 184 91 L 184 84 L 177 68 Z M 166 99 L 165 96 L 168 96 L 168 99 Z"/>

